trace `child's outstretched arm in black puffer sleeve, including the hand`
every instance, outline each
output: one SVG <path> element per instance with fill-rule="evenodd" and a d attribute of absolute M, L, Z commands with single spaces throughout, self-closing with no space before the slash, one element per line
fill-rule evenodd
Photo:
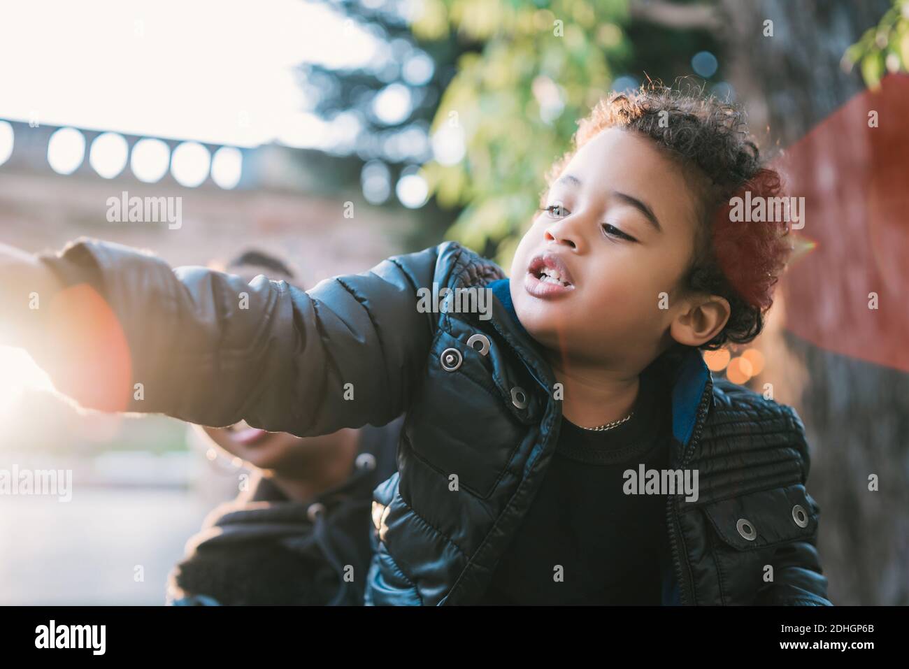
<path fill-rule="evenodd" d="M 425 364 L 438 247 L 302 291 L 204 267 L 172 269 L 79 240 L 36 258 L 0 246 L 5 342 L 28 349 L 86 408 L 197 424 L 245 419 L 301 436 L 385 424 Z"/>

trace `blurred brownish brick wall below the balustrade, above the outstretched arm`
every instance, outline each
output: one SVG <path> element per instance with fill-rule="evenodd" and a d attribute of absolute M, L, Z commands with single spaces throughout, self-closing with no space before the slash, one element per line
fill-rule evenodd
<path fill-rule="evenodd" d="M 183 225 L 108 223 L 107 199 L 183 197 Z M 228 260 L 247 246 L 291 261 L 306 287 L 326 276 L 362 272 L 401 251 L 415 218 L 345 200 L 262 191 L 188 189 L 176 184 L 12 171 L 0 167 L 0 240 L 28 251 L 59 249 L 88 235 L 154 251 L 171 265 Z"/>

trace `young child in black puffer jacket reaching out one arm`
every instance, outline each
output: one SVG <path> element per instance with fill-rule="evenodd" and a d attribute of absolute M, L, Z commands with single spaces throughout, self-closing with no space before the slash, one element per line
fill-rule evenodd
<path fill-rule="evenodd" d="M 406 410 L 366 604 L 830 604 L 804 425 L 701 354 L 761 331 L 786 226 L 728 209 L 779 179 L 737 109 L 659 87 L 575 140 L 510 279 L 446 242 L 303 292 L 82 240 L 0 254 L 4 313 L 96 409 L 300 436 Z M 489 311 L 425 308 L 464 290 Z"/>

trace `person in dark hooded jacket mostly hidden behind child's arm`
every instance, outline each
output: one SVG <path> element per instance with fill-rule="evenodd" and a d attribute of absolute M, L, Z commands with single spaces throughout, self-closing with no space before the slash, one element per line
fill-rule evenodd
<path fill-rule="evenodd" d="M 279 259 L 246 251 L 226 271 L 295 282 Z M 217 392 L 216 388 L 212 389 Z M 196 425 L 232 459 L 240 493 L 208 514 L 168 577 L 168 604 L 363 604 L 372 493 L 395 473 L 403 416 L 383 427 L 298 437 L 245 422 Z"/>

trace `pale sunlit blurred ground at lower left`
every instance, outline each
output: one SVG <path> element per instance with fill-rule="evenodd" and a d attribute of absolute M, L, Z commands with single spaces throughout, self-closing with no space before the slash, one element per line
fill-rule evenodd
<path fill-rule="evenodd" d="M 180 489 L 79 488 L 67 504 L 0 496 L 0 604 L 163 604 L 166 575 L 211 508 Z"/>

